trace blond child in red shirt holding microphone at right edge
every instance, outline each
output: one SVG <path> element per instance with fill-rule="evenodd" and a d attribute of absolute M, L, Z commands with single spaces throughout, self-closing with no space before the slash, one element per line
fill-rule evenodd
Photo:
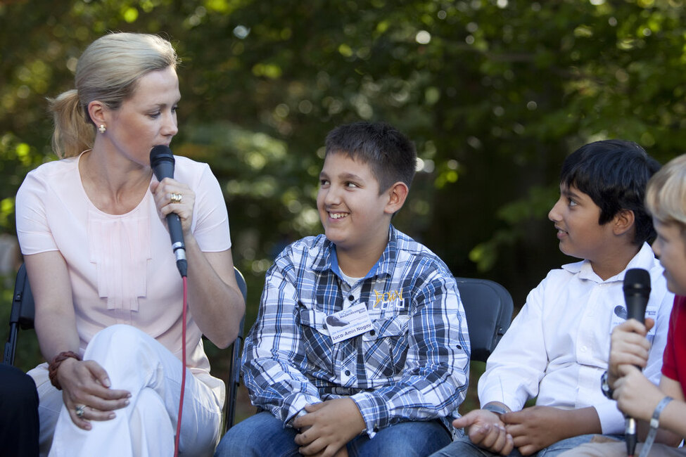
<path fill-rule="evenodd" d="M 641 373 L 650 343 L 643 337 L 652 321 L 629 319 L 612 332 L 608 387 L 617 406 L 635 418 L 639 439 L 634 455 L 684 457 L 676 448 L 686 437 L 686 155 L 671 160 L 648 183 L 646 206 L 657 238 L 653 250 L 665 269 L 667 288 L 676 294 L 663 356 L 662 378 L 655 386 Z M 640 368 L 637 368 L 640 367 Z M 564 457 L 622 457 L 624 443 L 595 437 Z"/>

